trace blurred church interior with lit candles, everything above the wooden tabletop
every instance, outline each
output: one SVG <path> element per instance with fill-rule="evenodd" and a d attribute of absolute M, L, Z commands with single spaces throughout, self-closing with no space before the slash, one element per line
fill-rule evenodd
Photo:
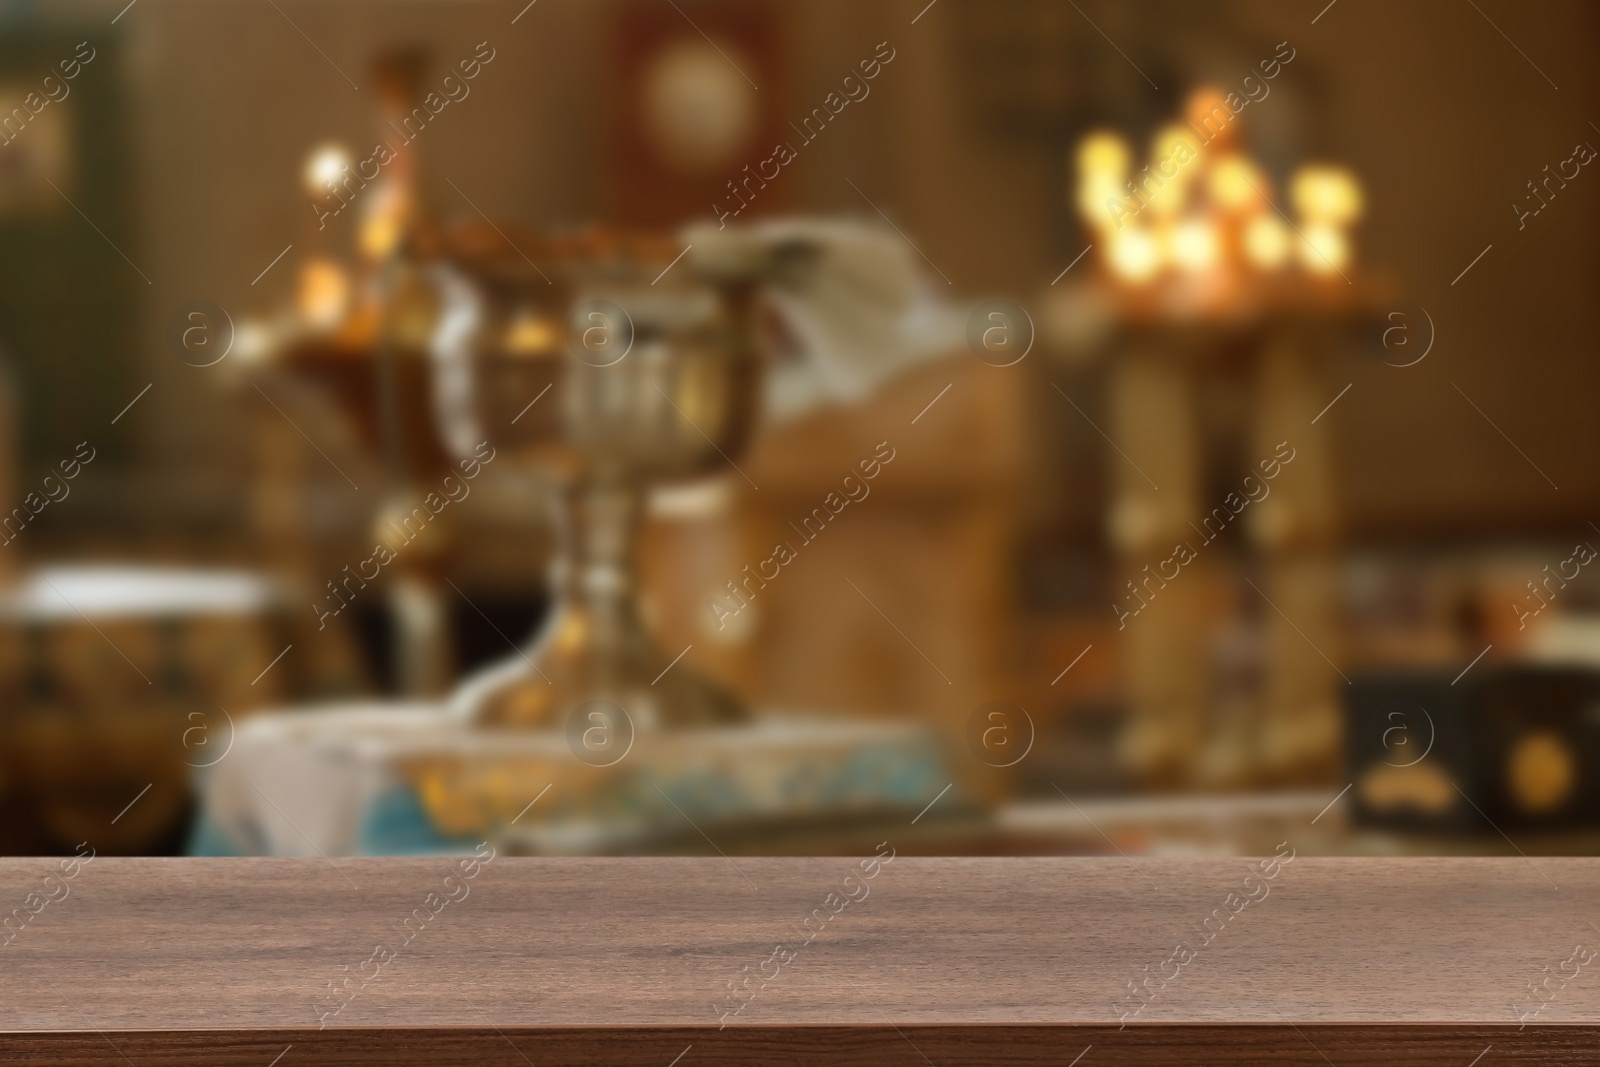
<path fill-rule="evenodd" d="M 1595 10 L 122 6 L 0 3 L 3 853 L 1600 845 Z"/>

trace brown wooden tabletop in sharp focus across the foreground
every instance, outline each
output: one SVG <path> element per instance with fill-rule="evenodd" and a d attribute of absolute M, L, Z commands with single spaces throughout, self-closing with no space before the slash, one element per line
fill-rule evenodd
<path fill-rule="evenodd" d="M 1600 859 L 469 870 L 0 861 L 0 1062 L 1600 1064 Z"/>

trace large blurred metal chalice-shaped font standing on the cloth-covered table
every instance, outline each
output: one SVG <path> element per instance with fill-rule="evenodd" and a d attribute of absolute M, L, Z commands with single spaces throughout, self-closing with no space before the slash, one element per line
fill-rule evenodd
<path fill-rule="evenodd" d="M 438 267 L 442 437 L 464 453 L 493 427 L 514 462 L 547 475 L 560 531 L 546 622 L 451 710 L 490 729 L 622 728 L 618 709 L 629 731 L 742 721 L 731 693 L 651 640 L 635 558 L 646 491 L 726 470 L 750 437 L 762 267 L 675 262 L 675 242 L 544 248 L 547 269 Z"/>

